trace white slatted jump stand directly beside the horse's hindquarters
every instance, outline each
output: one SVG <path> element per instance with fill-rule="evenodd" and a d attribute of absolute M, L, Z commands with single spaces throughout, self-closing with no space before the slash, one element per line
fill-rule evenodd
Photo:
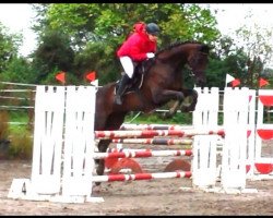
<path fill-rule="evenodd" d="M 92 193 L 95 93 L 94 86 L 67 87 L 63 181 L 58 202 L 84 202 Z"/>

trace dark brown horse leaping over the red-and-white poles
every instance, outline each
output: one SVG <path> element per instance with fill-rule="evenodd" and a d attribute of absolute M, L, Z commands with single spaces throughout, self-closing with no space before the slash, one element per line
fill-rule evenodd
<path fill-rule="evenodd" d="M 119 130 L 126 116 L 131 111 L 149 113 L 176 100 L 168 117 L 182 106 L 183 100 L 192 97 L 192 102 L 183 108 L 185 112 L 193 111 L 198 93 L 183 87 L 182 69 L 188 66 L 194 75 L 195 85 L 204 86 L 205 69 L 209 62 L 210 47 L 202 43 L 175 43 L 155 53 L 135 68 L 134 74 L 143 72 L 141 86 L 135 86 L 123 94 L 122 105 L 114 102 L 117 82 L 98 87 L 96 93 L 95 131 Z M 98 152 L 105 153 L 111 140 L 100 140 Z M 96 173 L 104 174 L 104 159 L 96 160 Z M 99 183 L 96 183 L 97 185 Z"/>

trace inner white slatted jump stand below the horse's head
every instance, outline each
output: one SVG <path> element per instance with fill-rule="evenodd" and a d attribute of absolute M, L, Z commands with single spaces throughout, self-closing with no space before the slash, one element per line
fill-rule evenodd
<path fill-rule="evenodd" d="M 195 130 L 218 128 L 218 87 L 194 88 L 198 92 L 198 102 L 192 112 L 192 125 Z M 217 144 L 222 140 L 218 135 L 199 135 L 193 141 L 192 164 L 193 186 L 202 190 L 212 190 L 216 185 L 218 175 Z M 202 156 L 201 156 L 202 154 Z"/>

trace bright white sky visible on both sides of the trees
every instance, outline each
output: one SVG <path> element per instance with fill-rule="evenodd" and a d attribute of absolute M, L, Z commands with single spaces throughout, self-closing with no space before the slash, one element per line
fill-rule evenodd
<path fill-rule="evenodd" d="M 207 5 L 207 3 L 200 3 Z M 273 3 L 210 3 L 211 9 L 219 9 L 216 14 L 222 33 L 233 35 L 235 29 L 246 23 L 245 16 L 251 10 L 253 20 L 264 27 L 273 28 Z M 23 33 L 20 53 L 24 57 L 36 49 L 36 35 L 31 31 L 35 12 L 29 3 L 0 3 L 0 22 L 11 33 Z M 272 38 L 273 41 L 273 38 Z"/>

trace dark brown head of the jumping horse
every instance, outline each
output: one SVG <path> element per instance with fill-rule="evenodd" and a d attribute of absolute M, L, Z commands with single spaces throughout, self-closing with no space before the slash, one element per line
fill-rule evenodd
<path fill-rule="evenodd" d="M 202 44 L 193 45 L 192 49 L 189 51 L 188 56 L 188 66 L 193 73 L 195 78 L 195 84 L 199 86 L 204 86 L 205 78 L 205 69 L 209 62 L 209 52 L 210 47 Z"/>

